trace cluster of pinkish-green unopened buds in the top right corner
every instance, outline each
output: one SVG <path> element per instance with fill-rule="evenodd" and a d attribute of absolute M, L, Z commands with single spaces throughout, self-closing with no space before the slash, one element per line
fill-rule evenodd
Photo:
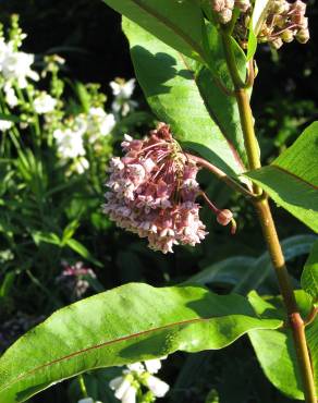
<path fill-rule="evenodd" d="M 272 1 L 258 40 L 268 41 L 276 49 L 279 49 L 283 42 L 291 42 L 294 38 L 301 44 L 306 44 L 309 39 L 309 29 L 305 13 L 306 4 L 301 0 L 294 3 L 285 0 Z"/>

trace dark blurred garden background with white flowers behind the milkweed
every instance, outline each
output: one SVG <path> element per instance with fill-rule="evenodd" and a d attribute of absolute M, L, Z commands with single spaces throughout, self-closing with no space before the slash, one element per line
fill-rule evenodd
<path fill-rule="evenodd" d="M 260 50 L 253 101 L 265 162 L 317 119 L 317 11 L 310 1 L 306 47 Z M 124 133 L 143 136 L 155 124 L 131 78 L 118 14 L 100 1 L 2 0 L 0 20 L 0 351 L 57 308 L 130 281 L 278 291 L 252 208 L 205 172 L 205 191 L 235 215 L 235 237 L 204 208 L 207 240 L 162 256 L 102 215 L 109 158 Z M 315 236 L 282 209 L 276 217 L 297 285 Z M 30 402 L 118 402 L 109 382 L 121 374 L 96 370 Z M 221 352 L 174 354 L 160 377 L 170 384 L 162 402 L 291 401 L 265 379 L 244 338 Z"/>

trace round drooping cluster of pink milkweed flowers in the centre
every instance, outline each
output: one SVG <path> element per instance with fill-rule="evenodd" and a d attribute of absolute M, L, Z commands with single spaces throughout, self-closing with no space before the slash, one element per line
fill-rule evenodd
<path fill-rule="evenodd" d="M 125 135 L 122 148 L 125 156 L 110 162 L 103 211 L 118 227 L 147 237 L 154 251 L 199 243 L 207 232 L 195 202 L 198 168 L 169 126 L 159 123 L 143 141 Z"/>

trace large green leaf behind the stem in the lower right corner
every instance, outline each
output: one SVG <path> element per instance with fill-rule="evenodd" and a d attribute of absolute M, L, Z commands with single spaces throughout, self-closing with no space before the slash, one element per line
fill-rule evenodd
<path fill-rule="evenodd" d="M 311 308 L 310 298 L 303 291 L 297 291 L 296 297 L 303 315 L 307 315 Z M 284 309 L 280 309 L 282 306 L 280 298 L 265 302 L 253 292 L 249 294 L 249 301 L 259 315 L 285 319 Z M 291 329 L 257 329 L 249 331 L 248 335 L 268 379 L 288 396 L 304 400 L 302 377 Z M 318 320 L 306 328 L 306 339 L 318 393 Z"/>

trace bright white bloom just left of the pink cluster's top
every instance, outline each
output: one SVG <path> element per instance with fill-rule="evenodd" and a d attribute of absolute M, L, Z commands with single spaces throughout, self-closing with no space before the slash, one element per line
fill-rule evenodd
<path fill-rule="evenodd" d="M 62 158 L 76 158 L 85 156 L 82 132 L 71 129 L 57 129 L 53 132 L 57 141 L 58 152 Z"/>

